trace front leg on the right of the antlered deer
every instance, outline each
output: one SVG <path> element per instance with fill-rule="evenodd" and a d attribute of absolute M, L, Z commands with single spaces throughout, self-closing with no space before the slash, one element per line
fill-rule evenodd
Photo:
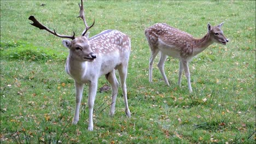
<path fill-rule="evenodd" d="M 88 130 L 92 131 L 94 129 L 93 112 L 94 112 L 94 101 L 97 92 L 97 81 L 91 81 L 89 84 L 89 95 L 88 95 L 88 107 L 89 107 L 89 125 Z"/>

